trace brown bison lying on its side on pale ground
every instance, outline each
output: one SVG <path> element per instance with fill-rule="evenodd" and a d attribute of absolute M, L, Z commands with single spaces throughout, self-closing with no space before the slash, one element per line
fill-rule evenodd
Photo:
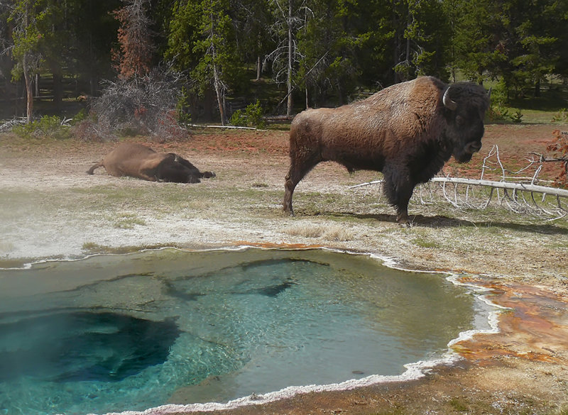
<path fill-rule="evenodd" d="M 156 153 L 146 145 L 123 143 L 93 165 L 87 173 L 92 175 L 98 167 L 109 174 L 131 176 L 151 182 L 199 183 L 202 177 L 215 177 L 213 172 L 200 172 L 185 158 L 174 153 Z"/>

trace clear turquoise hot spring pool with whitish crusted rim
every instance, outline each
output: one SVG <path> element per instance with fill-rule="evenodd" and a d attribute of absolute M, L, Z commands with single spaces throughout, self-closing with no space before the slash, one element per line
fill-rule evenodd
<path fill-rule="evenodd" d="M 488 307 L 329 250 L 165 249 L 0 270 L 0 414 L 104 414 L 400 375 Z"/>

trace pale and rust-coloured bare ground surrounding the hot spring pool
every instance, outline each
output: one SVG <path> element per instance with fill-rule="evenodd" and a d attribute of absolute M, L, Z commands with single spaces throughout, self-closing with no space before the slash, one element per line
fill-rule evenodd
<path fill-rule="evenodd" d="M 545 152 L 555 129 L 568 126 L 489 125 L 481 153 L 444 172 L 479 178 L 493 143 L 505 164 L 524 166 L 528 153 Z M 331 163 L 300 182 L 290 218 L 280 205 L 287 138 L 285 131 L 201 131 L 182 142 L 148 143 L 217 173 L 201 184 L 169 184 L 111 177 L 102 168 L 86 175 L 116 143 L 0 135 L 0 267 L 165 245 L 258 245 L 325 246 L 456 272 L 510 307 L 500 333 L 454 346 L 464 357 L 459 365 L 411 382 L 301 394 L 231 414 L 568 414 L 566 218 L 414 198 L 415 226 L 399 228 L 378 187 L 349 188 L 378 174 L 349 175 Z M 554 170 L 547 165 L 541 177 Z"/>

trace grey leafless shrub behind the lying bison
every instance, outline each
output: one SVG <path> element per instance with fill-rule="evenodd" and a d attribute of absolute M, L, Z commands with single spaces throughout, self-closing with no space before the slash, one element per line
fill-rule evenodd
<path fill-rule="evenodd" d="M 134 133 L 167 140 L 185 136 L 176 109 L 183 81 L 182 74 L 170 67 L 156 67 L 129 80 L 107 81 L 102 96 L 93 100 L 90 120 L 83 121 L 83 137 L 107 140 L 116 133 Z"/>

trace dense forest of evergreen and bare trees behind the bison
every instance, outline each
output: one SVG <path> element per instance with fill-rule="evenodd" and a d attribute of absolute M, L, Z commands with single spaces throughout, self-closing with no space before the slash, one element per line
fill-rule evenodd
<path fill-rule="evenodd" d="M 426 74 L 514 121 L 565 103 L 567 29 L 562 0 L 0 0 L 0 119 L 258 124 Z"/>

